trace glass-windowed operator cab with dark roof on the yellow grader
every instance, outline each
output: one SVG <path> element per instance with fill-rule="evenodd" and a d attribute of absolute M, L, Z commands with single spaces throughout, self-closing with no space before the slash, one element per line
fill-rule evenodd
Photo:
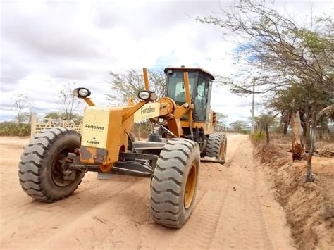
<path fill-rule="evenodd" d="M 173 99 L 176 104 L 185 103 L 185 81 L 183 73 L 189 75 L 189 87 L 192 104 L 194 104 L 193 119 L 198 122 L 209 120 L 211 87 L 214 76 L 202 68 L 165 68 L 166 96 Z M 185 115 L 184 119 L 187 119 Z"/>

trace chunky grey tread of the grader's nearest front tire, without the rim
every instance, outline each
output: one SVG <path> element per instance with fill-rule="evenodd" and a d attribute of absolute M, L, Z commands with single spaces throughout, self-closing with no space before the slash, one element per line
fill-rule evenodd
<path fill-rule="evenodd" d="M 151 215 L 153 220 L 165 227 L 180 228 L 183 218 L 180 202 L 183 203 L 182 182 L 187 159 L 197 143 L 188 139 L 170 139 L 159 156 L 151 181 Z M 181 201 L 182 199 L 182 201 Z"/>

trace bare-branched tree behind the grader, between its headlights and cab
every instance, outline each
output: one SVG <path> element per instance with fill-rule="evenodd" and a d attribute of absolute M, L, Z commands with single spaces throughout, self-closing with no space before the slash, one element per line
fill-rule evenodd
<path fill-rule="evenodd" d="M 149 71 L 149 90 L 155 92 L 158 97 L 162 97 L 165 92 L 165 74 L 156 70 Z M 125 104 L 130 98 L 134 101 L 138 99 L 138 92 L 144 90 L 144 78 L 142 71 L 137 69 L 127 70 L 125 73 L 109 72 L 109 84 L 111 94 L 109 100 L 116 101 L 117 105 Z"/>

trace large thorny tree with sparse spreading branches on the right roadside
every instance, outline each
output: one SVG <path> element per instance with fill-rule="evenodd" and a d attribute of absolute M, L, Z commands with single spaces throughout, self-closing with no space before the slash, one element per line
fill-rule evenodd
<path fill-rule="evenodd" d="M 218 81 L 240 95 L 258 94 L 262 106 L 281 114 L 283 132 L 286 134 L 289 124 L 292 127 L 292 159 L 306 160 L 305 180 L 313 182 L 316 134 L 334 119 L 332 17 L 311 14 L 306 20 L 295 20 L 265 1 L 251 0 L 240 1 L 220 14 L 197 18 L 240 41 L 235 51 L 240 72 L 217 77 Z M 275 117 L 266 114 L 258 120 L 267 144 Z"/>

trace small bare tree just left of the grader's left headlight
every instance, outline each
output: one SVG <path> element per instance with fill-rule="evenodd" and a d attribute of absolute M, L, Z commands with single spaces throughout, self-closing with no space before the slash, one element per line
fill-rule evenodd
<path fill-rule="evenodd" d="M 63 85 L 63 88 L 58 94 L 57 103 L 61 108 L 61 113 L 64 114 L 66 120 L 73 119 L 74 111 L 78 108 L 80 104 L 80 99 L 73 96 L 73 89 L 75 89 L 75 83 L 72 85 L 68 83 Z"/>

